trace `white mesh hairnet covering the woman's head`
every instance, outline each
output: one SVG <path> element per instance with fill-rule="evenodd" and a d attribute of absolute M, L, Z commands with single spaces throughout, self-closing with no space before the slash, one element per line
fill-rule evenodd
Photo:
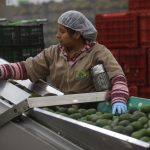
<path fill-rule="evenodd" d="M 92 23 L 81 13 L 70 10 L 58 18 L 58 23 L 75 31 L 80 31 L 85 39 L 95 40 L 97 31 Z"/>

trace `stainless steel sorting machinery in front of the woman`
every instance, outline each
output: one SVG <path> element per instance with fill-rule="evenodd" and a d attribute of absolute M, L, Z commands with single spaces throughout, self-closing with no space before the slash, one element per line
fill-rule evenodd
<path fill-rule="evenodd" d="M 13 82 L 39 96 L 31 97 Z M 42 80 L 13 82 L 0 82 L 1 150 L 150 150 L 148 142 L 42 109 L 104 101 L 107 91 L 64 95 Z"/>

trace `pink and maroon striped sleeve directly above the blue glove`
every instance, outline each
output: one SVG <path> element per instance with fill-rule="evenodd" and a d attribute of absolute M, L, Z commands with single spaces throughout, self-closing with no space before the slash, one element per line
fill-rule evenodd
<path fill-rule="evenodd" d="M 112 79 L 111 103 L 127 103 L 129 90 L 127 80 L 124 75 L 117 75 Z"/>

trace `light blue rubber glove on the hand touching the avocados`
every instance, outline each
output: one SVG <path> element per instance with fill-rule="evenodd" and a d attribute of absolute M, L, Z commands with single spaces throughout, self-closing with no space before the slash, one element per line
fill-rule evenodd
<path fill-rule="evenodd" d="M 127 112 L 127 105 L 121 102 L 116 102 L 112 105 L 112 114 L 121 114 Z"/>

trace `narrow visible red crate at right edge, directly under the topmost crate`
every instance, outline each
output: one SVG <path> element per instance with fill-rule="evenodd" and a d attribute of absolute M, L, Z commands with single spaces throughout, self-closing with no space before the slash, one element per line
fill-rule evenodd
<path fill-rule="evenodd" d="M 150 47 L 150 11 L 139 14 L 140 46 Z"/>

